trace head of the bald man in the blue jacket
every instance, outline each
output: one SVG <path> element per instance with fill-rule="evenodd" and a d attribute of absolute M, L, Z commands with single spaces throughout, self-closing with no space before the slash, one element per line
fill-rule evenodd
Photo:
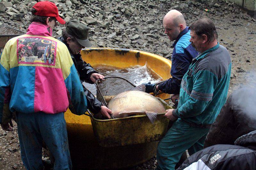
<path fill-rule="evenodd" d="M 168 35 L 171 41 L 176 40 L 180 32 L 186 28 L 182 13 L 177 10 L 171 10 L 164 16 L 163 25 L 164 33 Z"/>

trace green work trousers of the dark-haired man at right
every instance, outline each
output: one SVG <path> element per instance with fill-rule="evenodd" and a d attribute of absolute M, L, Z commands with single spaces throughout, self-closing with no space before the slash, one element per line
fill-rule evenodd
<path fill-rule="evenodd" d="M 188 149 L 189 155 L 203 149 L 208 128 L 196 128 L 178 119 L 173 123 L 164 138 L 158 143 L 158 170 L 174 170 L 183 152 Z"/>

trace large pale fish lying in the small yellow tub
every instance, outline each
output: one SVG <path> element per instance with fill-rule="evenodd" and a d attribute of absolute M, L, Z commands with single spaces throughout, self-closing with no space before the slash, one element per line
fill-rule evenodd
<path fill-rule="evenodd" d="M 164 105 L 156 97 L 141 91 L 127 91 L 116 95 L 108 103 L 116 118 L 146 114 L 154 122 L 157 113 L 164 113 Z"/>

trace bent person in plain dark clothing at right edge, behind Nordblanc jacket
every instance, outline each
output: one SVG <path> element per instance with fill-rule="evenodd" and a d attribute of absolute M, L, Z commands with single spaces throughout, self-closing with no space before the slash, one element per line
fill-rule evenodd
<path fill-rule="evenodd" d="M 236 138 L 256 130 L 256 88 L 233 92 L 212 123 L 204 148 L 215 144 L 234 144 Z"/>

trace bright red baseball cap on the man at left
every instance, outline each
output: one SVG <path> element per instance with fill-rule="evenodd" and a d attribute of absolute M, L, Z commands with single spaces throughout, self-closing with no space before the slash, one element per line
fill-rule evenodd
<path fill-rule="evenodd" d="M 32 8 L 36 10 L 35 15 L 42 17 L 55 17 L 60 24 L 65 24 L 66 22 L 59 16 L 59 11 L 57 6 L 49 1 L 40 1 L 36 3 Z"/>

